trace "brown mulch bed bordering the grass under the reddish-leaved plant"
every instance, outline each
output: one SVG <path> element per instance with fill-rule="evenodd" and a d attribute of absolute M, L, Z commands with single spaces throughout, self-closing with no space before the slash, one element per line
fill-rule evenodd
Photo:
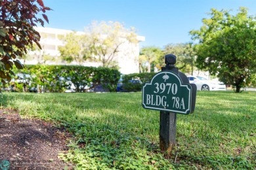
<path fill-rule="evenodd" d="M 67 152 L 64 129 L 42 120 L 22 119 L 16 110 L 0 109 L 0 169 L 73 169 L 58 158 Z"/>

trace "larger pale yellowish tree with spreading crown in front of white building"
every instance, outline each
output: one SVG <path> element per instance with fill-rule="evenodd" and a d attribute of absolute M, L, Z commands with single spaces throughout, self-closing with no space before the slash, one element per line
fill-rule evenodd
<path fill-rule="evenodd" d="M 125 42 L 137 44 L 135 29 L 126 29 L 119 22 L 93 22 L 85 28 L 89 35 L 91 57 L 103 67 L 116 67 L 115 56 Z"/>

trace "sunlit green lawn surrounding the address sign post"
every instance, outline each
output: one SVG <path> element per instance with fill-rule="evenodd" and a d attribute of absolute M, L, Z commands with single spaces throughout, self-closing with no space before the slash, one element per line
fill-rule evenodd
<path fill-rule="evenodd" d="M 1 107 L 64 126 L 74 135 L 60 158 L 77 169 L 255 169 L 256 93 L 198 92 L 177 115 L 177 145 L 159 150 L 160 112 L 141 93 L 3 93 Z"/>

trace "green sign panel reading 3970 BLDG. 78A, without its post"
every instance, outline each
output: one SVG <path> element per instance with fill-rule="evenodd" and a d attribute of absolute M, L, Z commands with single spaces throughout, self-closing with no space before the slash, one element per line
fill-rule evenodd
<path fill-rule="evenodd" d="M 192 87 L 172 71 L 161 71 L 142 88 L 142 107 L 180 114 L 189 114 L 192 102 Z"/>

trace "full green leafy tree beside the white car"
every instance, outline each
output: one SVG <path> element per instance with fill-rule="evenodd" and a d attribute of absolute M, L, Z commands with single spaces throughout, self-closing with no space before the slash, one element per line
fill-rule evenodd
<path fill-rule="evenodd" d="M 236 15 L 216 9 L 209 14 L 200 30 L 190 31 L 192 39 L 199 41 L 196 64 L 240 92 L 256 70 L 256 18 L 243 7 Z"/>

